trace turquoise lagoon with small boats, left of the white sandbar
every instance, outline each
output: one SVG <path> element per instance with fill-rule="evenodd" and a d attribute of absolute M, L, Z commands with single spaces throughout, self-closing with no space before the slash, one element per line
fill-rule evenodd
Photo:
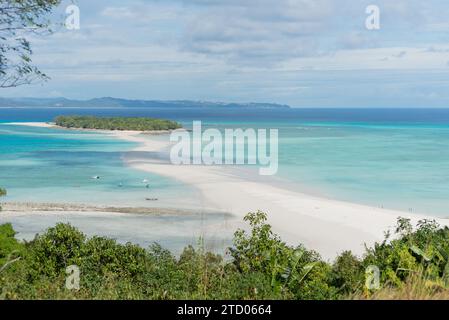
<path fill-rule="evenodd" d="M 102 134 L 0 124 L 0 185 L 7 201 L 192 207 L 193 188 L 125 166 L 134 147 Z"/>

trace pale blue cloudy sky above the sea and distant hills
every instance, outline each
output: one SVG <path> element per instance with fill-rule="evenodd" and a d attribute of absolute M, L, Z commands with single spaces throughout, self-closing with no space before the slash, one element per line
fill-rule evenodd
<path fill-rule="evenodd" d="M 78 0 L 3 97 L 449 107 L 447 0 Z M 52 20 L 63 22 L 65 1 Z M 380 29 L 369 30 L 376 5 Z"/>

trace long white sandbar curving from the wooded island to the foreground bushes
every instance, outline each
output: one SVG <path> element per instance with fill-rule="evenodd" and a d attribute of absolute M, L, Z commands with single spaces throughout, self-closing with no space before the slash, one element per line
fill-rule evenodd
<path fill-rule="evenodd" d="M 51 127 L 45 123 L 20 123 Z M 304 244 L 324 258 L 333 259 L 344 250 L 362 254 L 364 245 L 372 245 L 391 230 L 398 217 L 414 223 L 433 219 L 419 214 L 375 208 L 349 202 L 320 198 L 276 187 L 265 182 L 248 181 L 217 166 L 177 166 L 150 161 L 139 153 L 169 147 L 169 139 L 154 139 L 136 132 L 114 131 L 113 136 L 140 143 L 135 155 L 126 159 L 133 168 L 170 177 L 191 184 L 202 194 L 204 209 L 236 215 L 242 220 L 248 212 L 257 210 L 268 214 L 269 223 L 289 244 Z M 166 141 L 166 142 L 165 142 Z M 435 219 L 449 225 L 447 219 Z"/>

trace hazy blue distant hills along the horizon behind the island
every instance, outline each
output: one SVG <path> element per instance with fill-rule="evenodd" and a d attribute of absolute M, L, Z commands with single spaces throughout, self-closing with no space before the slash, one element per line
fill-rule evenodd
<path fill-rule="evenodd" d="M 70 100 L 65 98 L 0 98 L 0 108 L 51 107 L 51 108 L 257 108 L 289 109 L 288 105 L 274 103 L 223 103 L 207 101 L 159 101 L 127 100 L 117 98 L 96 98 L 91 100 Z"/>

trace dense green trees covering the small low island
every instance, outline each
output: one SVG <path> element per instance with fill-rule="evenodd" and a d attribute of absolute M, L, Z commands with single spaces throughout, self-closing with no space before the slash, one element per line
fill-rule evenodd
<path fill-rule="evenodd" d="M 60 127 L 72 129 L 159 131 L 182 128 L 175 121 L 153 118 L 59 116 L 54 121 Z"/>

